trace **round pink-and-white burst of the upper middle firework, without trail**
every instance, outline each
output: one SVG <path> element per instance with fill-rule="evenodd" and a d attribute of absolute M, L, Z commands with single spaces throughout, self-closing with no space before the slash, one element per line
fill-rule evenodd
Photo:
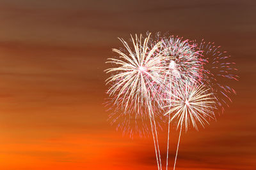
<path fill-rule="evenodd" d="M 196 44 L 189 42 L 188 39 L 163 38 L 161 40 L 161 49 L 163 55 L 168 60 L 169 73 L 172 76 L 181 80 L 200 80 L 202 76 L 202 60 L 199 56 L 199 51 L 196 50 Z"/>

